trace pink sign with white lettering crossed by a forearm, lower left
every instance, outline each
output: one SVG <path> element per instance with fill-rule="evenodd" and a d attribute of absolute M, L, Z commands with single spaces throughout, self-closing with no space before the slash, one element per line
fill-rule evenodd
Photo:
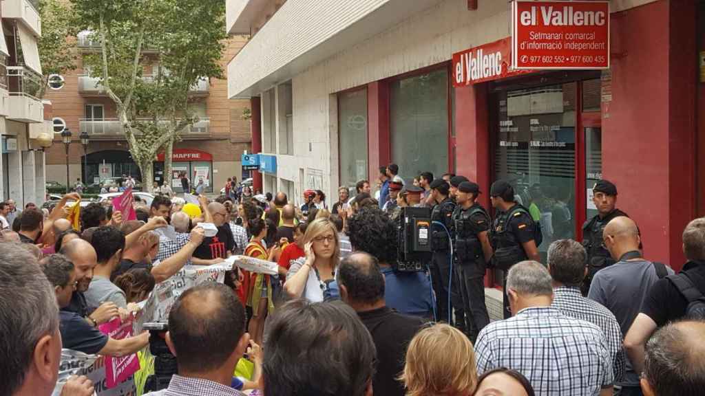
<path fill-rule="evenodd" d="M 107 334 L 115 340 L 122 340 L 133 335 L 133 318 L 130 317 L 127 321 L 121 321 L 119 317 L 114 318 L 108 323 L 103 323 L 98 326 L 102 333 Z M 137 354 L 130 354 L 123 357 L 105 357 L 105 380 L 107 388 L 114 388 L 116 385 L 123 383 L 130 378 L 137 370 L 140 369 L 140 359 Z"/>

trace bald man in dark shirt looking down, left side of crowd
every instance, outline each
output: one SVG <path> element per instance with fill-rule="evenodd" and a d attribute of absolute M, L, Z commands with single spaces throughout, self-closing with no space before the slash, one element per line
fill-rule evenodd
<path fill-rule="evenodd" d="M 98 265 L 98 256 L 92 245 L 85 240 L 71 240 L 61 247 L 61 254 L 73 263 L 76 273 L 76 288 L 71 296 L 71 302 L 62 311 L 69 311 L 85 318 L 92 326 L 97 326 L 118 315 L 118 307 L 113 302 L 101 304 L 90 312 L 86 297 L 83 294 L 93 279 L 93 269 Z"/>

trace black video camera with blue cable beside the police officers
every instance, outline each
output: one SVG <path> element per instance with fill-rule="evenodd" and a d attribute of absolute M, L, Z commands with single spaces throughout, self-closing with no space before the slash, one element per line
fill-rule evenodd
<path fill-rule="evenodd" d="M 426 271 L 431 261 L 431 209 L 401 208 L 396 271 Z"/>

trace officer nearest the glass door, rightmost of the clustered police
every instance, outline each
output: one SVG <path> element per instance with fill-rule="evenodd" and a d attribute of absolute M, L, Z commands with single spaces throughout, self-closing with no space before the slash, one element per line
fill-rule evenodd
<path fill-rule="evenodd" d="M 514 188 L 508 182 L 497 180 L 492 183 L 490 200 L 492 206 L 497 210 L 496 218 L 492 223 L 491 240 L 494 249 L 492 263 L 505 271 L 503 282 L 505 290 L 503 293 L 504 317 L 509 318 L 511 314 L 506 295 L 506 273 L 511 266 L 519 261 L 527 259 L 540 261 L 536 241 L 539 233 L 537 233 L 537 225 L 529 211 L 515 202 Z"/>

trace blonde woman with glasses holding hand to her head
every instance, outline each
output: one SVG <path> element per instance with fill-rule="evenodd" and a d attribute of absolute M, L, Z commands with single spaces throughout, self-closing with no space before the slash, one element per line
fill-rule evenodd
<path fill-rule="evenodd" d="M 340 261 L 336 226 L 328 218 L 317 218 L 307 226 L 303 245 L 305 256 L 291 264 L 284 292 L 291 298 L 321 302 L 331 292 L 329 285 L 336 278 Z"/>

